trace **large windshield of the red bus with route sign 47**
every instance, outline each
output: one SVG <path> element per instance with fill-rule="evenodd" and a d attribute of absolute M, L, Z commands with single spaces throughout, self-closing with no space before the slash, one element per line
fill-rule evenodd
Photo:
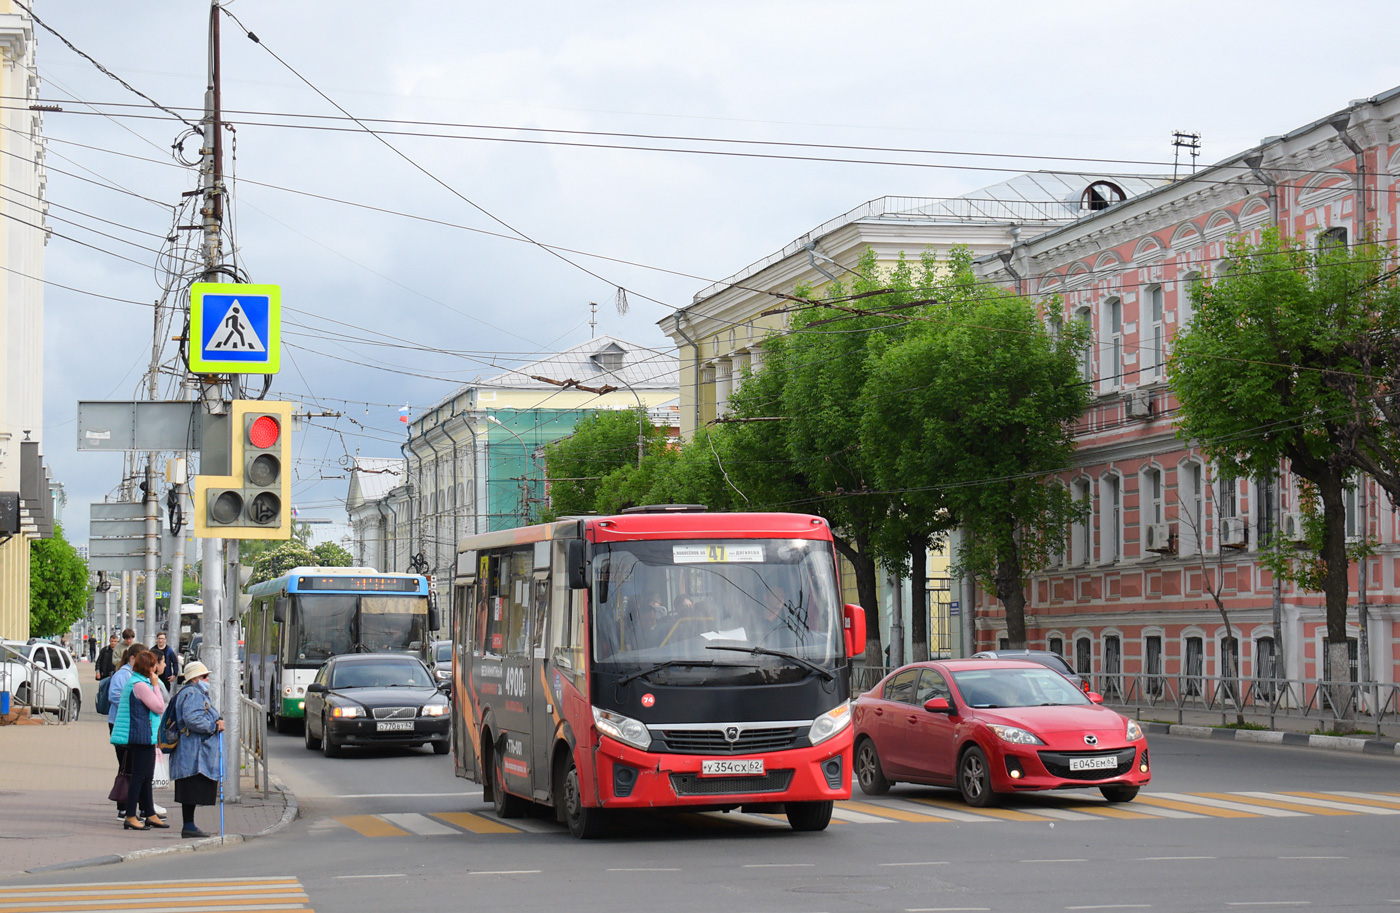
<path fill-rule="evenodd" d="M 655 675 L 689 681 L 701 667 L 707 678 L 710 667 L 742 667 L 760 669 L 764 682 L 795 681 L 840 655 L 841 605 L 826 542 L 599 543 L 594 594 L 594 658 L 619 672 L 668 664 Z"/>

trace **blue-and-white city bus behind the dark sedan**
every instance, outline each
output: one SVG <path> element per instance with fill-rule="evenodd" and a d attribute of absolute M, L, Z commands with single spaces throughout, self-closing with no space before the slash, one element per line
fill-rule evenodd
<path fill-rule="evenodd" d="M 428 581 L 372 567 L 295 567 L 252 584 L 244 612 L 244 693 L 286 732 L 305 717 L 307 685 L 342 653 L 410 653 L 430 661 Z"/>

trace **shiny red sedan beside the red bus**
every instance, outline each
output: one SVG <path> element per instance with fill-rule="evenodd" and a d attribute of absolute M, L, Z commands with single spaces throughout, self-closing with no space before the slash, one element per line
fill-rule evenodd
<path fill-rule="evenodd" d="M 1131 801 L 1151 780 L 1134 720 L 1063 675 L 1015 660 L 916 662 L 855 699 L 855 777 L 955 786 L 969 805 L 998 793 L 1098 787 Z"/>

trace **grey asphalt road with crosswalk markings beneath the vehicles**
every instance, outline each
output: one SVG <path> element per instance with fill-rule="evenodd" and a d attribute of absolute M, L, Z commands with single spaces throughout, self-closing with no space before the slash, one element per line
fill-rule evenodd
<path fill-rule="evenodd" d="M 260 909 L 322 912 L 1400 910 L 1394 759 L 1170 737 L 1151 748 L 1154 781 L 1131 805 L 1074 791 L 972 815 L 951 791 L 899 786 L 879 800 L 857 791 L 823 833 L 636 815 L 577 842 L 549 819 L 497 822 L 431 749 L 328 760 L 288 735 L 273 765 L 302 818 L 279 836 L 24 882 L 123 882 L 143 896 L 196 879 L 225 899 L 291 892 Z"/>

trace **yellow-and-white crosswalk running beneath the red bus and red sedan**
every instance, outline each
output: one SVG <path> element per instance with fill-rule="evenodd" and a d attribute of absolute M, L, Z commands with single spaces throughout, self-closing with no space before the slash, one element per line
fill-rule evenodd
<path fill-rule="evenodd" d="M 783 815 L 746 812 L 664 812 L 678 823 L 710 828 L 787 828 Z M 862 797 L 837 802 L 833 825 L 979 825 L 979 823 L 1092 823 L 1096 821 L 1309 818 L 1344 815 L 1400 815 L 1400 793 L 1357 791 L 1240 791 L 1141 793 L 1133 802 L 1110 804 L 1096 797 L 1008 797 L 995 808 L 972 808 L 952 794 Z M 322 828 L 347 828 L 363 837 L 564 835 L 550 819 L 498 819 L 484 812 L 427 812 L 343 815 Z M 322 828 L 318 828 L 322 829 Z"/>

